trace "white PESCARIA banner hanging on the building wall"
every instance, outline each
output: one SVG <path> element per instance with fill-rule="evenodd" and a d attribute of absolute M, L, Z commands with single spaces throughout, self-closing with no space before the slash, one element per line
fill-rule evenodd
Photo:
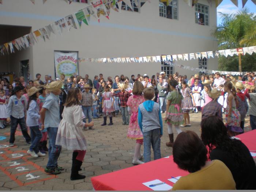
<path fill-rule="evenodd" d="M 61 74 L 65 77 L 78 75 L 78 52 L 54 52 L 55 76 L 60 78 Z"/>

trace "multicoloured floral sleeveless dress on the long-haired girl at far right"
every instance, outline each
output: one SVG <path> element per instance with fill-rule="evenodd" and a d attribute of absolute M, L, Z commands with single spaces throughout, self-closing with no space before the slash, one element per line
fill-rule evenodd
<path fill-rule="evenodd" d="M 231 117 L 230 117 L 230 124 L 227 124 L 227 117 L 229 113 L 229 108 L 232 108 Z M 229 106 L 229 102 L 227 101 L 227 108 L 226 108 L 226 126 L 228 131 L 233 132 L 234 135 L 238 135 L 239 133 L 243 132 L 242 128 L 240 127 L 241 115 L 236 108 L 235 99 L 232 99 L 232 106 Z"/>

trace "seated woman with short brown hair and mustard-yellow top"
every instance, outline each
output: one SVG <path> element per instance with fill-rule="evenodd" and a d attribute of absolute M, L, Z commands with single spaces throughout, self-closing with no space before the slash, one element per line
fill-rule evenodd
<path fill-rule="evenodd" d="M 173 144 L 173 160 L 190 174 L 181 177 L 172 190 L 236 189 L 227 166 L 219 161 L 207 161 L 207 150 L 193 131 L 181 132 Z"/>

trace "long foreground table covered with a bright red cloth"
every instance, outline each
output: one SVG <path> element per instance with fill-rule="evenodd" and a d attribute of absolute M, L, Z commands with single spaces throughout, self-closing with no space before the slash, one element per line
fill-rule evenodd
<path fill-rule="evenodd" d="M 237 135 L 241 141 L 249 148 L 256 150 L 256 130 Z M 161 158 L 155 161 L 136 165 L 116 172 L 92 177 L 91 182 L 96 191 L 148 191 L 150 188 L 144 186 L 143 182 L 159 179 L 166 184 L 174 184 L 167 179 L 177 176 L 186 176 L 188 172 L 178 168 L 173 162 L 173 156 Z"/>

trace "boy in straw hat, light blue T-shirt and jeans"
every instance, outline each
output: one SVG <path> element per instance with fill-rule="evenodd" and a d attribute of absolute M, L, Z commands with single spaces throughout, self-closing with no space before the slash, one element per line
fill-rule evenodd
<path fill-rule="evenodd" d="M 56 145 L 56 136 L 60 123 L 59 95 L 61 92 L 61 81 L 53 81 L 46 85 L 46 94 L 49 94 L 40 111 L 41 128 L 47 129 L 49 136 L 49 157 L 45 167 L 45 172 L 50 174 L 60 174 L 62 167 L 58 166 L 57 160 L 60 156 L 61 146 Z"/>

